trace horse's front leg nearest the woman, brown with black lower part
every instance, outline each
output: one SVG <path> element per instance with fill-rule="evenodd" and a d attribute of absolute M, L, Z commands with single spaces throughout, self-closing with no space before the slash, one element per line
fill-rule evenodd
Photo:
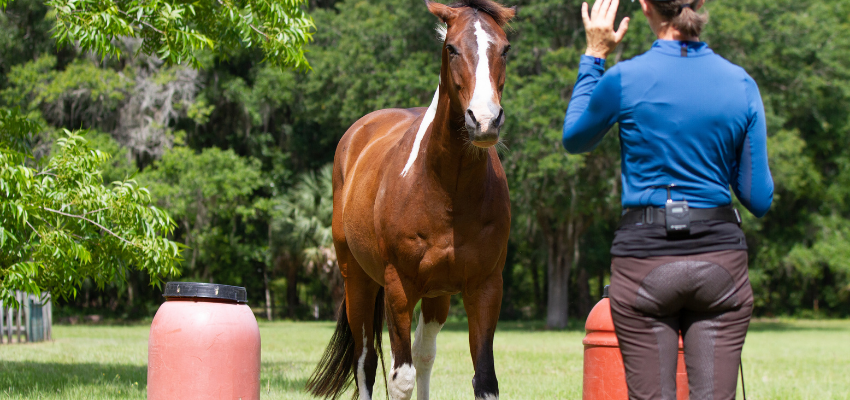
<path fill-rule="evenodd" d="M 469 319 L 469 351 L 475 368 L 472 390 L 476 400 L 496 400 L 499 382 L 493 363 L 493 334 L 502 307 L 501 269 L 470 282 L 463 292 L 463 307 Z"/>

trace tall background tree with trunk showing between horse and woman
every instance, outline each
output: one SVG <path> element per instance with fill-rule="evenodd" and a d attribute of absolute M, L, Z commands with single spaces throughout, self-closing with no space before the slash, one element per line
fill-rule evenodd
<path fill-rule="evenodd" d="M 564 112 L 583 50 L 580 5 L 542 1 L 521 8 L 514 22 L 518 34 L 511 40 L 516 48 L 532 50 L 511 60 L 503 96 L 514 238 L 535 238 L 544 249 L 546 323 L 555 329 L 567 326 L 571 287 L 583 292 L 579 314 L 589 311 L 589 277 L 579 268 L 582 248 L 588 247 L 582 240 L 594 224 L 615 219 L 619 208 L 616 132 L 590 154 L 568 155 L 561 147 Z M 577 285 L 574 271 L 581 274 Z"/>

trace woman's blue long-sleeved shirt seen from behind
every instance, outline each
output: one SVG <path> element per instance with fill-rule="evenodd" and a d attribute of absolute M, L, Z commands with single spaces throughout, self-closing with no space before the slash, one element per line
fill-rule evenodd
<path fill-rule="evenodd" d="M 770 208 L 773 178 L 758 86 L 705 43 L 658 40 L 608 72 L 582 56 L 564 148 L 592 150 L 615 122 L 624 208 L 663 207 L 670 184 L 673 199 L 693 208 L 730 204 L 730 184 L 757 217 Z"/>

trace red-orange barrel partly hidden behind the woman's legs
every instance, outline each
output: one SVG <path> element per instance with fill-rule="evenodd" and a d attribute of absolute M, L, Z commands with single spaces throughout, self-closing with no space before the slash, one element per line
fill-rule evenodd
<path fill-rule="evenodd" d="M 611 303 L 608 300 L 608 286 L 602 294 L 602 300 L 596 303 L 587 323 L 584 325 L 587 335 L 584 344 L 584 380 L 582 382 L 583 400 L 626 400 L 629 390 L 626 386 L 626 370 L 623 367 L 623 355 L 620 344 L 614 334 L 614 320 L 611 319 Z M 676 398 L 688 399 L 688 374 L 685 370 L 685 353 L 682 348 L 682 336 L 679 335 L 679 363 L 676 370 Z"/>

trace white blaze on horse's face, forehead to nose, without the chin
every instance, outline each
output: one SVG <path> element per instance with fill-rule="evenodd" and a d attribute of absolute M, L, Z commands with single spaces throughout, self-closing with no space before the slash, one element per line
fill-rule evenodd
<path fill-rule="evenodd" d="M 499 106 L 493 102 L 493 83 L 490 81 L 490 59 L 487 50 L 490 48 L 490 34 L 481 27 L 481 21 L 475 21 L 475 41 L 478 43 L 478 63 L 475 66 L 475 89 L 469 100 L 469 109 L 475 114 L 475 119 L 481 124 L 481 131 L 489 128 L 493 118 L 499 113 Z M 475 121 L 473 121 L 475 122 Z"/>

